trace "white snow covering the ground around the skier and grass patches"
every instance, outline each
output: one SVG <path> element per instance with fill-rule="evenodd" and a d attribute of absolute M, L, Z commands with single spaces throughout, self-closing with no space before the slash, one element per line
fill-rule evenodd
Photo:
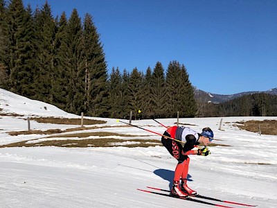
<path fill-rule="evenodd" d="M 10 131 L 27 130 L 27 121 L 24 119 L 28 116 L 80 118 L 53 105 L 33 101 L 3 89 L 0 89 L 0 109 L 0 114 L 10 114 L 0 116 L 1 145 L 16 141 L 37 142 L 29 141 L 31 139 L 44 140 L 45 135 L 8 135 L 7 132 Z M 162 146 L 125 147 L 134 144 L 130 139 L 157 139 L 159 143 L 159 135 L 135 127 L 120 127 L 122 123 L 116 122 L 116 119 L 93 119 L 107 121 L 102 126 L 118 127 L 82 132 L 105 131 L 137 137 L 114 136 L 112 138 L 126 141 L 122 146 L 115 144 L 116 147 L 107 148 L 0 148 L 0 207 L 211 207 L 137 191 L 136 189 L 147 189 L 147 186 L 169 189 L 177 161 Z M 221 119 L 224 122 L 223 131 L 218 130 Z M 215 133 L 214 143 L 229 145 L 209 147 L 211 155 L 207 157 L 190 156 L 188 185 L 191 188 L 204 196 L 222 200 L 258 207 L 277 207 L 277 137 L 258 135 L 258 130 L 247 132 L 233 126 L 236 121 L 253 119 L 277 117 L 179 119 L 180 123 L 186 123 L 197 131 L 206 126 L 211 127 Z M 159 119 L 164 125 L 174 125 L 176 121 L 177 119 Z M 33 120 L 30 122 L 31 128 L 37 130 L 78 127 L 37 123 Z M 132 124 L 161 134 L 165 130 L 153 120 L 132 121 Z M 140 137 L 141 135 L 148 137 Z M 216 203 L 224 205 L 222 202 Z"/>

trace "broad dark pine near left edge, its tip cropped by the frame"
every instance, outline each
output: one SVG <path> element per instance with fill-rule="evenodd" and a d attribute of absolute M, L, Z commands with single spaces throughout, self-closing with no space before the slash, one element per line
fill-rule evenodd
<path fill-rule="evenodd" d="M 33 83 L 33 19 L 30 8 L 26 11 L 21 0 L 8 6 L 8 75 L 10 91 L 30 96 Z"/>

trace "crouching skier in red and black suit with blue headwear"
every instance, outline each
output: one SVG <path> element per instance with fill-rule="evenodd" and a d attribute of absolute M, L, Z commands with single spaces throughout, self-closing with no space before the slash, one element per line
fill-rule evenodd
<path fill-rule="evenodd" d="M 161 137 L 161 143 L 167 148 L 170 155 L 178 160 L 178 164 L 175 168 L 171 194 L 177 196 L 195 195 L 197 192 L 190 189 L 187 185 L 188 165 L 190 164 L 190 158 L 188 155 L 209 155 L 210 151 L 206 146 L 213 141 L 213 131 L 211 128 L 204 128 L 202 133 L 199 134 L 188 127 L 172 126 L 163 133 L 163 136 L 165 137 Z M 172 139 L 168 137 L 171 137 Z M 181 143 L 185 143 L 184 147 Z M 193 150 L 195 145 L 200 143 L 203 143 L 205 147 Z"/>

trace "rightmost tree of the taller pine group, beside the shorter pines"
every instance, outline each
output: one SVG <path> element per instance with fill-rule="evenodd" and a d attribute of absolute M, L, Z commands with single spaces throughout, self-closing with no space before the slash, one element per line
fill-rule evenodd
<path fill-rule="evenodd" d="M 84 17 L 84 58 L 86 62 L 84 80 L 85 95 L 91 116 L 108 115 L 108 83 L 107 64 L 100 42 L 100 36 L 94 26 L 92 17 Z"/>

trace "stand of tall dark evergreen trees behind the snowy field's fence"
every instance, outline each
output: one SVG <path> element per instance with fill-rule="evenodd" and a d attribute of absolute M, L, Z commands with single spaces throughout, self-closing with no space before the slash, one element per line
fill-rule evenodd
<path fill-rule="evenodd" d="M 54 19 L 47 1 L 33 11 L 21 0 L 0 0 L 0 14 L 1 88 L 87 116 L 196 115 L 186 67 L 176 60 L 166 71 L 157 61 L 145 74 L 113 67 L 109 75 L 90 14 L 82 20 L 74 9 L 69 18 L 63 12 Z"/>

